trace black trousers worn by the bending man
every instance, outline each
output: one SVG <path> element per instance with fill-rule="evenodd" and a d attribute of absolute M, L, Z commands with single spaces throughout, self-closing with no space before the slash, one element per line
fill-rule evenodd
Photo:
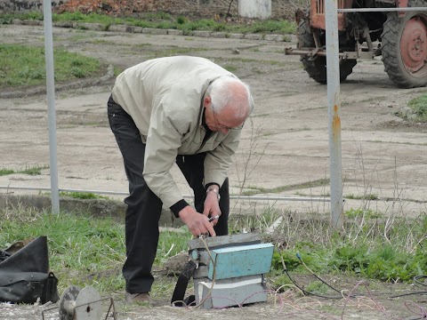
<path fill-rule="evenodd" d="M 158 244 L 158 221 L 162 212 L 162 201 L 149 189 L 142 177 L 144 169 L 145 144 L 141 135 L 123 108 L 109 98 L 109 125 L 114 133 L 118 148 L 122 153 L 125 173 L 129 180 L 129 196 L 125 217 L 126 260 L 123 276 L 126 292 L 150 292 L 154 277 L 151 268 L 156 258 Z M 193 189 L 195 208 L 203 212 L 205 203 L 204 179 L 205 154 L 177 156 L 176 164 L 181 169 L 189 187 Z M 228 234 L 230 212 L 229 180 L 225 180 L 220 189 L 220 208 L 222 216 L 215 226 L 217 236 Z"/>

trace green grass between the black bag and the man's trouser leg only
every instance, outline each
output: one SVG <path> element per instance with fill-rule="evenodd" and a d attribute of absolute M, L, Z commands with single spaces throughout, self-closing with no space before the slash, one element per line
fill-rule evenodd
<path fill-rule="evenodd" d="M 87 284 L 93 273 L 116 270 L 124 260 L 123 226 L 110 219 L 19 210 L 14 214 L 20 219 L 2 219 L 0 243 L 47 236 L 50 267 L 60 280 L 60 292 L 71 284 Z M 101 286 L 118 289 L 123 282 L 118 275 L 114 278 L 117 281 L 108 280 L 109 284 Z"/>

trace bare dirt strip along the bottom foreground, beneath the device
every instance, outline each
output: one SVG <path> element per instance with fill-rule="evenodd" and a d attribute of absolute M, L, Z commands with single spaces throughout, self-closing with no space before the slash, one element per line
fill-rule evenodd
<path fill-rule="evenodd" d="M 296 280 L 299 281 L 296 277 Z M 111 305 L 111 297 L 102 297 L 102 319 L 113 319 L 113 311 L 116 311 L 117 320 L 186 320 L 197 318 L 202 320 L 260 320 L 260 319 L 307 319 L 307 320 L 415 320 L 427 317 L 427 297 L 424 294 L 400 296 L 412 292 L 420 292 L 414 286 L 407 284 L 374 284 L 360 279 L 332 278 L 327 279 L 330 284 L 344 284 L 345 291 L 342 295 L 337 292 L 324 293 L 331 299 L 323 299 L 314 296 L 302 297 L 293 291 L 282 293 L 269 292 L 266 302 L 259 302 L 245 307 L 235 308 L 194 308 L 194 307 L 170 307 L 169 297 L 161 297 L 161 293 L 153 300 L 154 306 L 126 306 L 124 301 L 115 297 L 114 308 Z M 300 282 L 299 284 L 302 284 Z M 343 288 L 343 287 L 341 287 Z M 349 298 L 349 296 L 354 297 Z M 83 304 L 83 311 L 79 309 L 81 319 L 95 319 L 93 313 L 85 311 L 87 304 Z M 109 309 L 110 308 L 110 309 Z M 0 304 L 0 312 L 3 319 L 13 320 L 55 320 L 59 318 L 57 304 L 45 305 L 12 305 Z M 63 314 L 63 311 L 62 311 Z M 86 317 L 87 316 L 87 317 Z M 92 317 L 90 317 L 92 316 Z M 72 319 L 69 318 L 69 319 Z M 99 319 L 99 318 L 97 318 Z M 61 319 L 63 320 L 63 319 Z M 80 320 L 78 317 L 76 320 Z"/>

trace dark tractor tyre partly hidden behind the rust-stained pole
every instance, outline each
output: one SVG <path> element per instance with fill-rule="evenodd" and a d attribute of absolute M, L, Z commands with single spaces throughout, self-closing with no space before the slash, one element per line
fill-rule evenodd
<path fill-rule="evenodd" d="M 314 37 L 310 33 L 309 21 L 302 20 L 298 26 L 298 46 L 299 48 L 314 48 Z M 326 57 L 318 56 L 315 59 L 306 55 L 301 56 L 302 66 L 309 76 L 319 84 L 326 84 Z M 340 82 L 347 79 L 353 72 L 357 60 L 341 60 L 340 62 Z"/>

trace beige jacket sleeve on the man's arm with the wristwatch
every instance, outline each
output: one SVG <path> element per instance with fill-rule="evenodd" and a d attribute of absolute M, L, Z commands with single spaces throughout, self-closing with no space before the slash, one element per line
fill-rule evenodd
<path fill-rule="evenodd" d="M 228 176 L 232 163 L 231 157 L 238 149 L 241 130 L 230 130 L 227 137 L 213 151 L 205 157 L 205 185 L 208 183 L 222 183 Z"/>

